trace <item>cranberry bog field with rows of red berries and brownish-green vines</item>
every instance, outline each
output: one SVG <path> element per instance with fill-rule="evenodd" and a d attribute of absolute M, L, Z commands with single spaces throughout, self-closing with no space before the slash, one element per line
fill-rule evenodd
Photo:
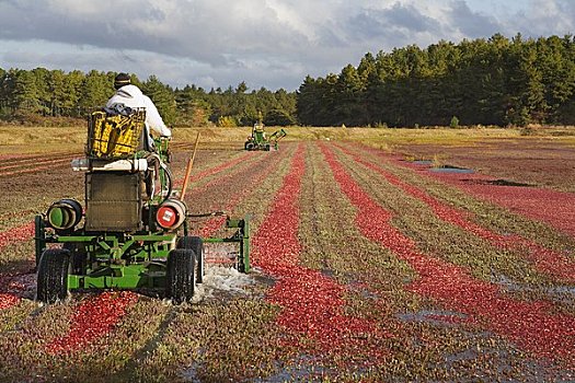
<path fill-rule="evenodd" d="M 186 202 L 251 216 L 253 271 L 210 265 L 183 305 L 116 290 L 37 303 L 32 222 L 83 199 L 81 147 L 4 151 L 0 381 L 575 380 L 573 142 L 349 130 L 198 151 Z M 191 144 L 176 142 L 182 179 Z"/>

